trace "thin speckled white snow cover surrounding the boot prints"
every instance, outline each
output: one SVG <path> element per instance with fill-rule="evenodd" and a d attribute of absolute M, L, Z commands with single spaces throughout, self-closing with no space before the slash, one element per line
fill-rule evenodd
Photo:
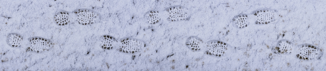
<path fill-rule="evenodd" d="M 325 71 L 325 2 L 0 0 L 0 70 Z M 168 20 L 168 8 L 175 6 L 182 6 L 186 20 Z M 98 17 L 87 25 L 79 24 L 76 17 L 69 17 L 67 24 L 64 20 L 61 25 L 55 21 L 56 14 L 68 12 L 69 16 L 76 16 L 74 11 L 79 9 L 92 10 Z M 272 17 L 273 22 L 257 25 L 253 13 L 266 9 L 275 10 L 274 16 L 260 17 L 268 22 Z M 151 22 L 146 16 L 149 11 L 159 13 Z M 233 19 L 237 15 L 247 15 L 248 25 L 236 25 Z M 17 39 L 20 47 L 8 44 L 10 33 L 23 37 Z M 120 52 L 117 49 L 121 45 L 104 49 L 103 35 L 113 36 L 117 41 L 125 37 L 138 39 L 144 47 L 135 53 Z M 186 45 L 190 36 L 203 42 L 227 43 L 225 54 L 207 55 L 205 51 L 209 48 L 192 51 Z M 33 37 L 51 41 L 50 48 L 42 53 L 27 51 L 32 45 L 29 38 Z M 274 48 L 279 47 L 281 40 L 291 42 L 291 53 L 282 54 L 285 52 L 282 50 L 275 53 Z M 316 52 L 309 53 L 302 45 L 311 45 L 304 48 Z"/>

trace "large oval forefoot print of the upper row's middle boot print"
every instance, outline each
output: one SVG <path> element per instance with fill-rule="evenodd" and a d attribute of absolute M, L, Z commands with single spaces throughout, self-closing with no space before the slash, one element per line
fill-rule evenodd
<path fill-rule="evenodd" d="M 189 15 L 186 12 L 186 8 L 183 6 L 172 6 L 168 8 L 169 21 L 183 21 L 188 20 Z"/>

